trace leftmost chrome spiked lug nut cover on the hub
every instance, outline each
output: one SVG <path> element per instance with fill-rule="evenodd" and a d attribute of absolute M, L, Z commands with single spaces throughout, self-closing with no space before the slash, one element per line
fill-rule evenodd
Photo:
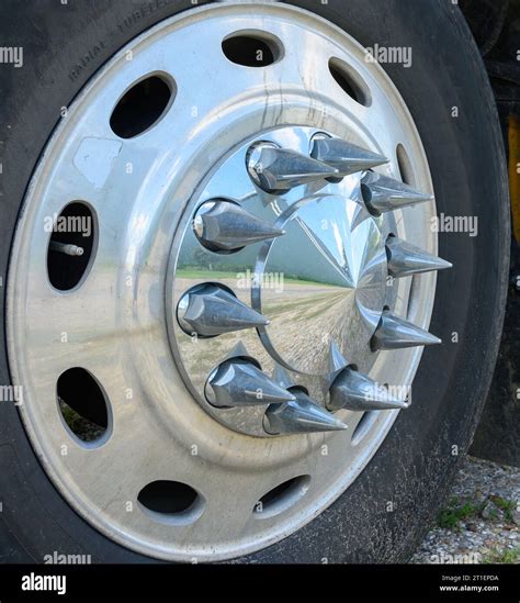
<path fill-rule="evenodd" d="M 184 333 L 202 337 L 269 324 L 264 316 L 215 284 L 203 284 L 188 291 L 179 302 L 177 316 Z"/>

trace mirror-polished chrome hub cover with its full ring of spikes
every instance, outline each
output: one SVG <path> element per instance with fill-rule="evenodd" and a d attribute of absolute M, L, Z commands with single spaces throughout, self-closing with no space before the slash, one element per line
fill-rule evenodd
<path fill-rule="evenodd" d="M 385 310 L 407 295 L 406 280 L 391 288 L 388 277 L 450 265 L 391 235 L 394 211 L 432 197 L 366 171 L 387 163 L 282 127 L 244 143 L 194 200 L 176 257 L 173 342 L 197 401 L 224 425 L 257 437 L 342 432 L 348 413 L 408 407 L 371 377 L 377 351 L 440 340 Z"/>

